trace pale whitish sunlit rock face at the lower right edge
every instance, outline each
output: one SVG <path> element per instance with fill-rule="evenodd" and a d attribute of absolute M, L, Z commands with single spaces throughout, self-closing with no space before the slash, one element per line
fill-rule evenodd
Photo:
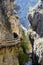
<path fill-rule="evenodd" d="M 34 41 L 34 53 L 39 57 L 38 62 L 40 63 L 43 58 L 43 38 L 38 38 Z"/>

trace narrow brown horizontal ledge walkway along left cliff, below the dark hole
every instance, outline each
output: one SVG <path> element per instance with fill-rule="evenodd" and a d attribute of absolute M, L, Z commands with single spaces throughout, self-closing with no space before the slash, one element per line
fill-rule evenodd
<path fill-rule="evenodd" d="M 17 40 L 0 40 L 0 48 L 15 46 L 20 43 L 20 39 Z"/>

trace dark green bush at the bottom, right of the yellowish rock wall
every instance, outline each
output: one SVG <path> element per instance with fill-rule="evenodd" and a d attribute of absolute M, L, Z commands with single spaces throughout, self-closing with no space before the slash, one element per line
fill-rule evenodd
<path fill-rule="evenodd" d="M 20 65 L 25 65 L 29 61 L 28 56 L 23 52 L 19 52 L 18 60 Z"/>

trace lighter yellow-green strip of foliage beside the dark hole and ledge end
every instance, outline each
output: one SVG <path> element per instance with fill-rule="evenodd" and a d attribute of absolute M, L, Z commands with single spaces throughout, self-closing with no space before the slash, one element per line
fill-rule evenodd
<path fill-rule="evenodd" d="M 26 49 L 28 48 L 28 36 L 27 32 L 23 34 L 23 40 L 21 41 L 21 47 L 23 48 L 24 53 L 26 53 Z"/>

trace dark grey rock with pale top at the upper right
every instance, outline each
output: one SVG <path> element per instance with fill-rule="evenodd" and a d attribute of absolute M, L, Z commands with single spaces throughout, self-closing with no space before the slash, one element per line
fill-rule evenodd
<path fill-rule="evenodd" d="M 29 22 L 39 36 L 43 37 L 43 1 L 39 2 L 37 7 L 30 10 L 28 14 Z"/>

